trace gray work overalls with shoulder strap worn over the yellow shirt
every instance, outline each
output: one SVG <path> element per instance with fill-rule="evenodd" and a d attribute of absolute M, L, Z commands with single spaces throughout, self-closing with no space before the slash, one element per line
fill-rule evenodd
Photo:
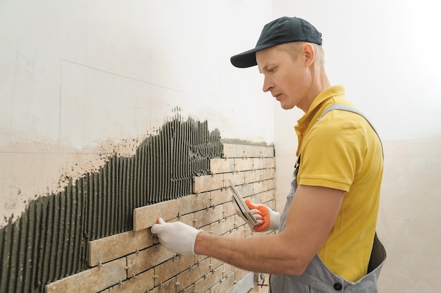
<path fill-rule="evenodd" d="M 358 113 L 366 119 L 366 117 L 355 108 L 342 105 L 333 105 L 329 108 L 326 108 L 320 118 L 322 118 L 326 113 L 332 110 L 352 111 L 354 113 Z M 292 180 L 291 183 L 291 191 L 290 194 L 287 196 L 287 202 L 280 218 L 279 233 L 285 229 L 287 212 L 290 208 L 292 198 L 294 197 L 294 193 L 297 189 L 297 172 L 299 171 L 299 164 L 300 154 L 294 168 L 294 180 Z M 325 266 L 320 257 L 316 255 L 312 259 L 311 263 L 309 263 L 309 266 L 306 268 L 304 273 L 302 273 L 302 275 L 271 275 L 271 293 L 377 293 L 378 275 L 380 275 L 380 270 L 385 259 L 385 248 L 383 247 L 383 244 L 381 244 L 375 233 L 371 260 L 369 261 L 368 266 L 368 273 L 360 280 L 356 282 L 349 282 L 347 280 L 344 280 L 344 278 L 335 275 Z"/>

